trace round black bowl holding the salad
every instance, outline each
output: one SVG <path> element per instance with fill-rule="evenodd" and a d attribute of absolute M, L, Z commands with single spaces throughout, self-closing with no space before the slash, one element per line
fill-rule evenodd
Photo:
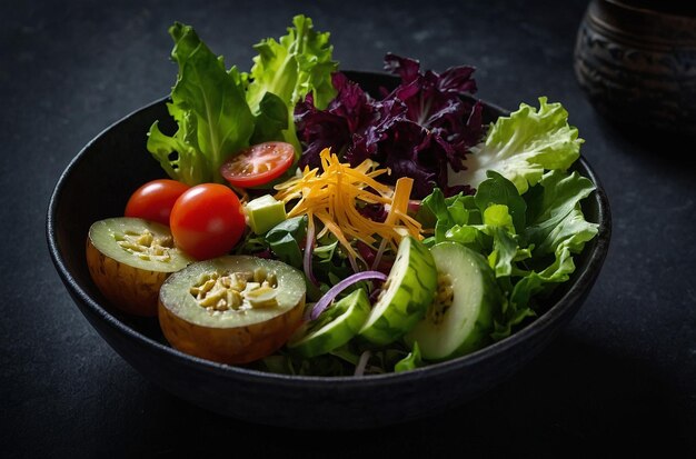
<path fill-rule="evenodd" d="M 369 91 L 394 84 L 391 77 L 350 73 Z M 488 120 L 504 111 L 486 106 Z M 138 319 L 111 308 L 93 285 L 84 259 L 90 224 L 122 214 L 129 194 L 162 177 L 146 150 L 155 120 L 167 120 L 165 100 L 111 126 L 70 162 L 48 211 L 47 237 L 56 268 L 89 322 L 136 370 L 176 396 L 242 420 L 294 428 L 350 429 L 385 426 L 435 415 L 490 389 L 536 356 L 576 313 L 606 256 L 610 216 L 589 164 L 576 169 L 597 186 L 586 200 L 599 233 L 576 259 L 577 270 L 548 310 L 529 326 L 464 358 L 409 372 L 366 377 L 295 377 L 265 373 L 190 357 L 169 347 L 157 319 Z"/>

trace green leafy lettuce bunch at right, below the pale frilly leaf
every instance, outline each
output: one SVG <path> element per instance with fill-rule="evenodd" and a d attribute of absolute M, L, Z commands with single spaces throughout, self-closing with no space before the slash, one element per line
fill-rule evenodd
<path fill-rule="evenodd" d="M 487 176 L 473 197 L 445 198 L 436 189 L 422 203 L 436 219 L 432 243 L 459 242 L 487 257 L 506 296 L 491 335 L 499 340 L 575 271 L 574 253 L 597 233 L 580 208 L 595 187 L 577 172 L 551 170 L 520 194 L 503 174 Z"/>

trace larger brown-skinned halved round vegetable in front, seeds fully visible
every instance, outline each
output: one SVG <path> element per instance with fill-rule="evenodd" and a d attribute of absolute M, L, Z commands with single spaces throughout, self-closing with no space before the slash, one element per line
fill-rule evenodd
<path fill-rule="evenodd" d="M 226 256 L 171 275 L 159 296 L 167 341 L 182 352 L 221 363 L 266 357 L 299 327 L 305 278 L 276 260 Z"/>

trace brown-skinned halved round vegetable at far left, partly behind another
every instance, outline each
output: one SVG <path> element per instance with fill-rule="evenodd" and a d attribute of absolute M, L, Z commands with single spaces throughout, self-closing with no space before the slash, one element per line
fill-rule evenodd
<path fill-rule="evenodd" d="M 165 279 L 193 262 L 173 246 L 168 227 L 129 217 L 92 223 L 86 257 L 92 280 L 115 307 L 150 317 L 157 316 Z"/>

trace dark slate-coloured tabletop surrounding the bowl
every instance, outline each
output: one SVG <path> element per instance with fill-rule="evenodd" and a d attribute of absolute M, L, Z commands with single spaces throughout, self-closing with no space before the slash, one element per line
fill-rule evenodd
<path fill-rule="evenodd" d="M 585 8 L 584 0 L 3 1 L 0 456 L 694 453 L 696 171 L 687 160 L 696 151 L 637 140 L 597 114 L 573 71 Z M 331 32 L 345 69 L 379 71 L 391 51 L 435 70 L 473 64 L 478 96 L 505 108 L 539 96 L 563 102 L 609 197 L 610 251 L 579 313 L 521 372 L 445 415 L 317 433 L 207 412 L 115 353 L 49 258 L 46 211 L 61 171 L 102 129 L 169 92 L 169 24 L 195 26 L 245 70 L 251 44 L 284 34 L 298 12 Z"/>

